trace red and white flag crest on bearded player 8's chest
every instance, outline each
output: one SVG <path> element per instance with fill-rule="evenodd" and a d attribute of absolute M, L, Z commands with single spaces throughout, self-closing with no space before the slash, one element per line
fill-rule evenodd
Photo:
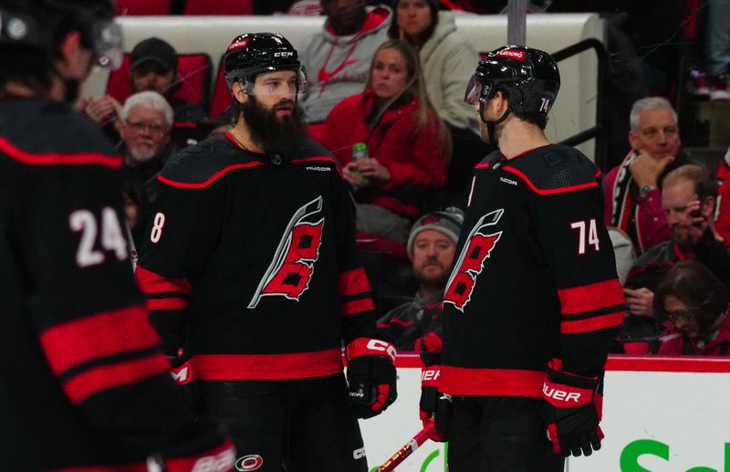
<path fill-rule="evenodd" d="M 299 300 L 314 274 L 324 223 L 321 196 L 294 213 L 248 308 L 255 308 L 262 297 Z"/>

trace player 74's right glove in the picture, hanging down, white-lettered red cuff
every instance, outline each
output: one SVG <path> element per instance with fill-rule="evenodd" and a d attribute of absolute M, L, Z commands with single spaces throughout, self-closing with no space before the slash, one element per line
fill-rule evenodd
<path fill-rule="evenodd" d="M 562 362 L 547 364 L 542 393 L 547 437 L 562 456 L 590 456 L 600 449 L 603 432 L 599 422 L 603 404 L 598 377 L 581 377 L 562 371 Z"/>

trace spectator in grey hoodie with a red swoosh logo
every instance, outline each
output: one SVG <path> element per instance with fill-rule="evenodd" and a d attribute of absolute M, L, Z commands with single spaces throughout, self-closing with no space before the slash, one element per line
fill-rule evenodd
<path fill-rule="evenodd" d="M 302 106 L 310 135 L 317 140 L 335 105 L 365 87 L 370 60 L 388 38 L 392 17 L 387 6 L 370 7 L 362 0 L 321 0 L 320 4 L 327 20 L 301 55 L 309 78 Z"/>

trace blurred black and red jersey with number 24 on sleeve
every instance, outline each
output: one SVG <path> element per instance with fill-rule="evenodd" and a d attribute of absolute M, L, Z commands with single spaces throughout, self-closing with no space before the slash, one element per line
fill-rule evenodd
<path fill-rule="evenodd" d="M 173 383 L 124 236 L 121 157 L 95 123 L 0 101 L 3 470 L 230 470 Z"/>

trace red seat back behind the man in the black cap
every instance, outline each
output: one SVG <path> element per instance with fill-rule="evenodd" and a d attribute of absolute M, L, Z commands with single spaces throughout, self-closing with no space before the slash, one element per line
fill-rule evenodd
<path fill-rule="evenodd" d="M 193 102 L 208 110 L 210 90 L 211 58 L 205 53 L 178 55 L 178 77 L 180 88 L 175 97 Z M 107 93 L 120 103 L 131 94 L 130 55 L 124 55 L 121 67 L 111 72 L 107 82 Z"/>

